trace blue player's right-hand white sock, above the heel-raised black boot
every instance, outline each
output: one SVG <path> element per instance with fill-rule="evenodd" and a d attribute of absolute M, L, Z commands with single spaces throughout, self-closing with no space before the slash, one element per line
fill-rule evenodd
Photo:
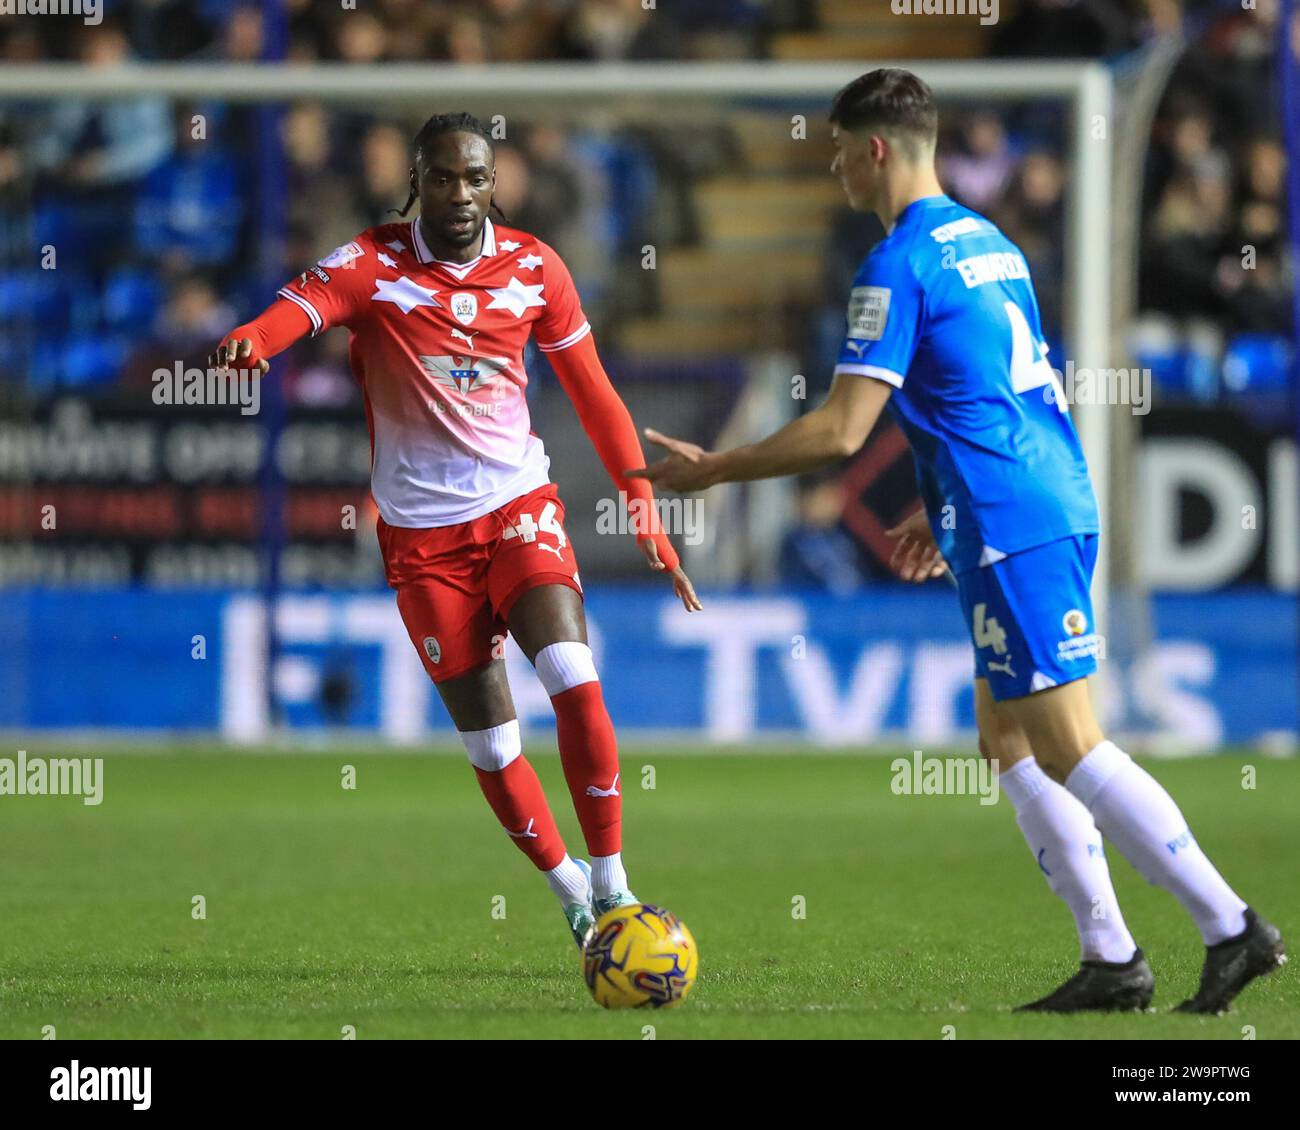
<path fill-rule="evenodd" d="M 1139 874 L 1183 904 L 1206 945 L 1245 928 L 1245 904 L 1192 839 L 1174 798 L 1118 745 L 1089 750 L 1065 785 Z"/>

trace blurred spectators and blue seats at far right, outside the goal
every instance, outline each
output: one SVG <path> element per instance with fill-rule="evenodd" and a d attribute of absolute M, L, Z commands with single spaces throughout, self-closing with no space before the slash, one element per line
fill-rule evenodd
<path fill-rule="evenodd" d="M 1134 333 L 1166 394 L 1273 414 L 1286 411 L 1296 283 L 1278 17 L 1277 0 L 1212 7 L 1171 77 L 1148 155 Z M 1291 35 L 1300 44 L 1300 20 Z"/>

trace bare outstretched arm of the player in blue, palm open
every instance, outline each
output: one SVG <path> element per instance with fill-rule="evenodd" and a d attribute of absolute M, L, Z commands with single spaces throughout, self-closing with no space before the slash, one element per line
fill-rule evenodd
<path fill-rule="evenodd" d="M 646 438 L 668 455 L 650 467 L 629 471 L 666 490 L 705 490 L 715 482 L 745 482 L 815 471 L 845 459 L 867 442 L 893 389 L 884 381 L 840 373 L 826 401 L 766 440 L 729 451 L 705 451 L 653 428 Z"/>

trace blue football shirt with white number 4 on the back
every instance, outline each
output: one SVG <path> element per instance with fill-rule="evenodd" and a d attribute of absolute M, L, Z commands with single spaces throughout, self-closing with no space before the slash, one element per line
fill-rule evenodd
<path fill-rule="evenodd" d="M 1097 533 L 1019 248 L 949 196 L 909 204 L 854 276 L 836 373 L 885 381 L 954 572 Z"/>

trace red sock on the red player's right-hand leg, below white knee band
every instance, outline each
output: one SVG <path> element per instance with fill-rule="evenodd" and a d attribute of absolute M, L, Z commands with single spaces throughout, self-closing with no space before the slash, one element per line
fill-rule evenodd
<path fill-rule="evenodd" d="M 564 780 L 593 856 L 623 850 L 619 745 L 595 680 L 551 696 Z"/>

